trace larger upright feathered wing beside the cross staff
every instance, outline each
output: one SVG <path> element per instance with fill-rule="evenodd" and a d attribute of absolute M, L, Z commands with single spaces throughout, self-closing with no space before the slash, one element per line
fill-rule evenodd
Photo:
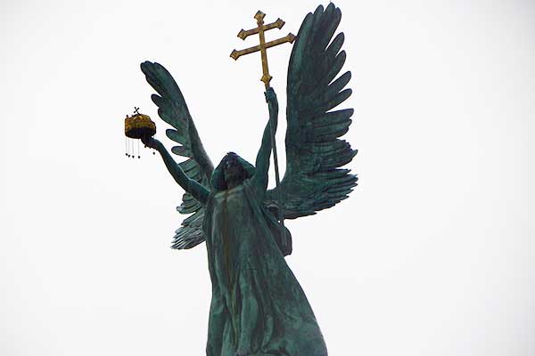
<path fill-rule="evenodd" d="M 347 133 L 353 109 L 330 111 L 350 97 L 343 88 L 351 73 L 336 77 L 346 59 L 344 35 L 333 38 L 342 18 L 334 4 L 318 6 L 301 24 L 288 67 L 286 173 L 282 190 L 284 218 L 316 214 L 334 206 L 357 185 L 357 176 L 340 169 L 357 154 L 338 139 Z M 268 190 L 265 203 L 276 211 L 277 192 Z"/>

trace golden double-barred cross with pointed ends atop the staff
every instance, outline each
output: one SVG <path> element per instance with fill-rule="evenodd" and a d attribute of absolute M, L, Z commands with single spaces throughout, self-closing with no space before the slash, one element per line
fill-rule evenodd
<path fill-rule="evenodd" d="M 232 53 L 230 53 L 230 56 L 237 60 L 241 56 L 249 53 L 255 53 L 260 51 L 260 55 L 262 57 L 262 78 L 260 79 L 264 84 L 266 85 L 266 89 L 269 87 L 269 81 L 271 81 L 271 76 L 269 75 L 269 68 L 268 68 L 268 52 L 267 49 L 270 47 L 274 47 L 278 44 L 285 44 L 286 42 L 293 43 L 293 40 L 295 39 L 295 36 L 293 36 L 291 33 L 288 34 L 288 36 L 285 36 L 283 38 L 276 39 L 275 41 L 271 41 L 266 43 L 266 36 L 264 36 L 264 32 L 268 31 L 272 28 L 283 28 L 284 21 L 281 19 L 277 19 L 273 23 L 269 23 L 268 25 L 264 25 L 264 17 L 266 14 L 264 12 L 257 12 L 256 15 L 254 15 L 254 18 L 257 20 L 258 28 L 252 28 L 248 29 L 247 31 L 242 29 L 238 33 L 238 37 L 242 38 L 243 40 L 251 35 L 259 34 L 260 37 L 260 44 L 255 45 L 254 47 L 246 48 L 242 51 L 236 51 L 234 50 Z"/>

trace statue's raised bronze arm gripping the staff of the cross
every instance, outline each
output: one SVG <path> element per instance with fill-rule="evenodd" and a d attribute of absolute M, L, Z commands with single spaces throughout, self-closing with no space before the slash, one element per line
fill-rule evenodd
<path fill-rule="evenodd" d="M 260 150 L 256 159 L 256 171 L 253 177 L 255 187 L 258 187 L 259 191 L 262 193 L 268 189 L 269 157 L 271 156 L 270 125 L 273 125 L 273 133 L 275 134 L 278 122 L 278 101 L 276 100 L 276 93 L 273 88 L 268 88 L 266 91 L 266 101 L 268 101 L 269 122 L 264 129 L 262 144 L 260 145 Z"/>

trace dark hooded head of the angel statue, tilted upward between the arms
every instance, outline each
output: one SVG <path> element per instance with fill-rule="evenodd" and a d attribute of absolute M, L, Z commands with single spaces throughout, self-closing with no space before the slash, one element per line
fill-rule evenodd
<path fill-rule="evenodd" d="M 212 187 L 215 190 L 226 190 L 228 185 L 236 185 L 251 178 L 254 174 L 254 166 L 245 159 L 228 152 L 211 176 Z"/>

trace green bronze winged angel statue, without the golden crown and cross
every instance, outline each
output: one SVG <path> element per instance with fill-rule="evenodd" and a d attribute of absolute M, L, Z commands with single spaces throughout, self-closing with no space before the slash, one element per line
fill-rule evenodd
<path fill-rule="evenodd" d="M 172 152 L 161 142 L 142 141 L 158 150 L 175 181 L 185 190 L 177 207 L 185 218 L 173 248 L 206 243 L 212 298 L 208 356 L 325 356 L 327 350 L 307 297 L 284 260 L 292 253 L 292 235 L 284 219 L 316 214 L 334 206 L 357 185 L 341 167 L 357 153 L 339 139 L 348 131 L 353 109 L 333 110 L 350 97 L 347 71 L 338 77 L 346 54 L 343 33 L 334 36 L 342 13 L 333 4 L 319 6 L 302 22 L 293 44 L 287 82 L 286 171 L 268 190 L 271 153 L 269 124 L 255 165 L 229 152 L 214 168 L 193 124 L 185 99 L 169 72 L 145 61 L 141 69 L 158 94 L 152 101 L 172 125 Z M 333 38 L 334 36 L 334 38 Z M 278 103 L 269 88 L 269 118 L 276 126 Z M 280 193 L 282 200 L 276 197 Z"/>

